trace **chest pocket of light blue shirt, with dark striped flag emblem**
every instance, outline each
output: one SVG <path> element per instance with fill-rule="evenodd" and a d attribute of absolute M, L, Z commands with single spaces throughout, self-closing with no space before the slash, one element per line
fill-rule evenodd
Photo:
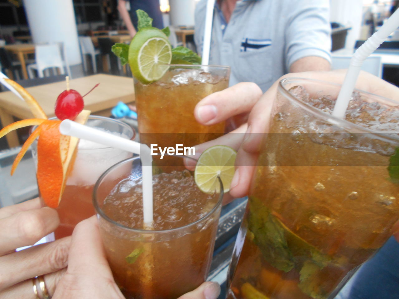
<path fill-rule="evenodd" d="M 241 82 L 255 82 L 258 85 L 269 82 L 272 79 L 271 54 L 271 45 L 247 49 L 241 46 L 231 71 Z"/>

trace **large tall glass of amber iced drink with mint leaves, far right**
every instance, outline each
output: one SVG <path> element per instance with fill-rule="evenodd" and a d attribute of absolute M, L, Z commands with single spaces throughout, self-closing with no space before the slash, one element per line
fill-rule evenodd
<path fill-rule="evenodd" d="M 340 119 L 331 115 L 339 90 L 280 81 L 228 298 L 334 298 L 391 236 L 399 218 L 399 102 L 355 90 Z"/>

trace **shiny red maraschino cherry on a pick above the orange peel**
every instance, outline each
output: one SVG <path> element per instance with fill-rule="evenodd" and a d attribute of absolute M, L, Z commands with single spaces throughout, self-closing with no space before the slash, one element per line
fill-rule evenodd
<path fill-rule="evenodd" d="M 74 89 L 69 89 L 69 77 L 66 77 L 67 89 L 59 94 L 55 102 L 55 115 L 58 119 L 74 120 L 82 112 L 85 104 L 83 97 Z"/>

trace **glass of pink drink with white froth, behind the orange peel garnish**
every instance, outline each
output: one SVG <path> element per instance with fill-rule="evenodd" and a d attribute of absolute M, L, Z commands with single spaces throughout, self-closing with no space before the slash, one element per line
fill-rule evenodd
<path fill-rule="evenodd" d="M 133 139 L 135 135 L 128 124 L 113 118 L 91 115 L 86 125 L 128 139 Z M 36 147 L 37 142 L 34 142 L 32 152 L 35 163 L 37 163 Z M 95 182 L 109 167 L 131 156 L 132 154 L 127 151 L 86 140 L 79 141 L 73 168 L 57 207 L 60 224 L 54 232 L 55 239 L 70 236 L 76 224 L 95 214 L 92 204 Z"/>

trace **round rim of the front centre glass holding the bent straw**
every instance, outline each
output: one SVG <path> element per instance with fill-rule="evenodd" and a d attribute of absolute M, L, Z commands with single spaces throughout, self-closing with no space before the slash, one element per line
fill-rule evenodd
<path fill-rule="evenodd" d="M 182 157 L 182 159 L 183 158 L 192 158 L 192 157 L 186 157 L 184 155 L 178 156 L 178 157 Z M 186 224 L 184 226 L 179 226 L 179 227 L 176 227 L 176 228 L 170 228 L 168 230 L 143 230 L 143 229 L 140 229 L 140 228 L 131 228 L 129 226 L 125 226 L 123 224 L 120 224 L 120 223 L 116 222 L 115 220 L 113 220 L 109 216 L 107 216 L 107 214 L 105 214 L 105 212 L 99 207 L 99 204 L 97 203 L 97 189 L 99 188 L 99 185 L 100 185 L 101 181 L 103 180 L 103 178 L 108 173 L 110 173 L 114 168 L 119 167 L 121 164 L 128 163 L 130 161 L 134 162 L 135 160 L 139 160 L 139 159 L 140 159 L 140 156 L 135 156 L 135 157 L 131 157 L 131 158 L 119 161 L 118 163 L 112 165 L 106 171 L 104 171 L 104 173 L 101 174 L 100 177 L 97 179 L 97 181 L 96 181 L 96 183 L 94 185 L 94 188 L 93 188 L 93 193 L 92 193 L 93 206 L 94 206 L 94 209 L 96 210 L 97 215 L 101 216 L 107 222 L 109 222 L 111 224 L 114 224 L 118 228 L 122 228 L 122 229 L 128 230 L 130 232 L 139 232 L 141 234 L 164 234 L 164 233 L 177 232 L 179 230 L 184 230 L 186 228 L 189 228 L 191 226 L 194 226 L 194 225 L 198 224 L 199 222 L 203 221 L 205 218 L 207 218 L 211 214 L 213 214 L 213 212 L 215 212 L 215 210 L 221 205 L 221 202 L 222 202 L 222 199 L 223 199 L 223 195 L 224 195 L 224 190 L 223 190 L 223 184 L 221 182 L 221 179 L 218 176 L 217 178 L 219 179 L 219 184 L 220 184 L 219 199 L 215 203 L 215 206 L 209 212 L 207 212 L 204 216 L 202 216 L 201 218 L 197 219 L 194 222 L 190 222 L 190 223 L 188 223 L 188 224 Z"/>

